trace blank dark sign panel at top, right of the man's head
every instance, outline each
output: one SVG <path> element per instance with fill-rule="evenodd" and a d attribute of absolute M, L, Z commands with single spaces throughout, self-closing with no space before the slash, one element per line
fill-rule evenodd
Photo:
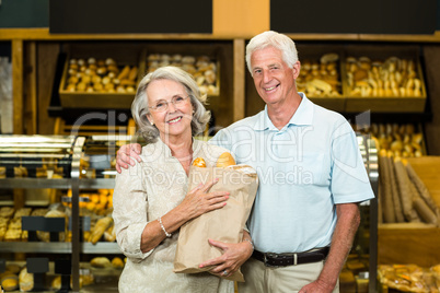
<path fill-rule="evenodd" d="M 270 30 L 321 34 L 433 34 L 438 0 L 270 0 Z"/>

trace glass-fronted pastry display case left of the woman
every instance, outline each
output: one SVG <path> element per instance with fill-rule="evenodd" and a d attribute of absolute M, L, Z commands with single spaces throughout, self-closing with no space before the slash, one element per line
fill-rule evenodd
<path fill-rule="evenodd" d="M 111 284 L 117 292 L 124 258 L 112 233 L 114 162 L 117 148 L 130 141 L 125 136 L 0 137 L 0 279 L 11 274 L 11 266 L 31 270 L 37 260 L 47 269 L 34 289 L 99 292 Z M 22 192 L 38 197 L 42 189 L 54 192 L 38 204 Z M 60 280 L 66 279 L 61 260 L 70 284 Z M 19 272 L 12 277 L 19 279 Z"/>

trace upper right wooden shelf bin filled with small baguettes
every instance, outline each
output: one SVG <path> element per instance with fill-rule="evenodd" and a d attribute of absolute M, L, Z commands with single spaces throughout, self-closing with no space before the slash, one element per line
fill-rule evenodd
<path fill-rule="evenodd" d="M 345 47 L 345 58 L 343 60 L 343 86 L 344 86 L 344 96 L 346 97 L 346 106 L 345 112 L 347 113 L 358 113 L 371 110 L 373 113 L 422 113 L 425 110 L 425 105 L 427 102 L 427 91 L 425 84 L 424 72 L 420 65 L 420 52 L 419 47 L 417 46 L 366 46 L 366 45 L 348 45 Z M 350 58 L 350 60 L 349 60 Z M 349 85 L 349 67 L 350 62 L 356 60 L 361 63 L 361 60 L 369 60 L 371 68 L 379 69 L 379 74 L 382 77 L 381 82 L 384 83 L 384 90 L 381 92 L 377 92 L 375 96 L 373 94 L 368 94 L 362 96 L 359 92 L 358 94 L 354 94 L 355 90 L 372 90 L 372 84 L 374 81 L 372 80 L 371 70 L 363 69 L 358 70 L 358 72 L 350 72 L 350 74 L 356 75 L 360 71 L 363 71 L 364 74 L 368 72 L 368 77 L 361 79 L 358 75 L 358 82 L 362 83 L 364 87 L 357 87 Z M 395 70 L 392 70 L 392 66 L 387 66 L 386 68 L 383 66 L 378 66 L 379 63 L 385 65 L 386 61 L 394 60 L 394 65 L 396 65 Z M 350 61 L 350 62 L 349 62 Z M 379 61 L 379 62 L 378 62 Z M 404 70 L 403 63 L 408 62 L 414 65 L 415 77 L 406 75 L 409 69 Z M 401 66 L 401 71 L 397 70 L 398 66 Z M 375 67 L 375 68 L 374 68 Z M 408 66 L 409 68 L 409 66 Z M 391 89 L 391 85 L 386 87 L 386 83 L 397 81 L 397 74 L 402 77 L 401 85 L 397 82 L 397 87 Z M 385 78 L 387 77 L 387 78 Z M 356 80 L 356 78 L 354 78 Z M 385 80 L 383 80 L 385 79 Z M 412 91 L 408 91 L 409 80 L 417 79 L 420 82 L 419 94 L 413 94 Z M 377 81 L 378 82 L 378 81 Z M 375 89 L 377 90 L 377 89 Z M 393 94 L 385 95 L 385 91 L 392 91 Z M 398 93 L 398 95 L 397 95 Z"/>

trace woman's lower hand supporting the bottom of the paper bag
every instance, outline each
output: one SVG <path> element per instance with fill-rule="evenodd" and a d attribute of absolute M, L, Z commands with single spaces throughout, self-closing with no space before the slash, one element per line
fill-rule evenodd
<path fill-rule="evenodd" d="M 223 250 L 223 255 L 200 263 L 199 268 L 216 266 L 210 272 L 221 277 L 229 277 L 238 271 L 253 251 L 250 242 L 234 244 L 209 239 L 209 244 Z M 224 271 L 227 272 L 225 274 L 223 274 Z"/>

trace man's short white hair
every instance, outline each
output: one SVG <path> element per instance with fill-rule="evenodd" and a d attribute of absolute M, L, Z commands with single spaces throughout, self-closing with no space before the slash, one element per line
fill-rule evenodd
<path fill-rule="evenodd" d="M 246 63 L 251 75 L 253 75 L 251 65 L 252 54 L 266 47 L 279 49 L 282 54 L 282 60 L 289 66 L 289 68 L 292 68 L 298 61 L 298 51 L 294 42 L 283 34 L 267 31 L 254 36 L 246 46 Z"/>

